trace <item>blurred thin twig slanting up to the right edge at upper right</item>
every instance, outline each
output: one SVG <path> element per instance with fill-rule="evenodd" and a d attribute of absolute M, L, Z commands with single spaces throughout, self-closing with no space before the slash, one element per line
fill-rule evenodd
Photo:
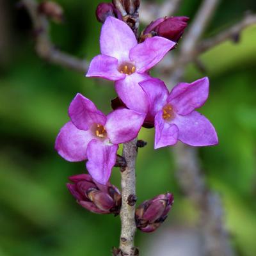
<path fill-rule="evenodd" d="M 255 23 L 256 23 L 256 15 L 247 14 L 243 20 L 241 20 L 231 28 L 221 31 L 220 34 L 200 42 L 200 44 L 198 45 L 197 54 L 208 51 L 209 49 L 213 48 L 218 44 L 221 44 L 226 40 L 232 40 L 234 37 L 239 35 L 244 28 Z"/>

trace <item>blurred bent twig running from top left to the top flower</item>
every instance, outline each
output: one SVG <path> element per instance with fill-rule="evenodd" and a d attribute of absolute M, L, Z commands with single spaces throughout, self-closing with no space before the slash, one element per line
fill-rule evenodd
<path fill-rule="evenodd" d="M 28 10 L 36 33 L 36 52 L 45 60 L 71 68 L 79 72 L 86 72 L 88 63 L 70 54 L 61 52 L 52 44 L 49 37 L 49 22 L 44 14 L 38 12 L 38 3 L 34 0 L 23 0 L 22 4 Z"/>

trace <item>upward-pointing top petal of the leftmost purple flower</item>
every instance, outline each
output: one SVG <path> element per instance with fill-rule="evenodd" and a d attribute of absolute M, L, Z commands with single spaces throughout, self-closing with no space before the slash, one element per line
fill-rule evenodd
<path fill-rule="evenodd" d="M 69 108 L 68 115 L 74 125 L 78 129 L 88 130 L 92 124 L 104 125 L 106 122 L 106 116 L 99 111 L 95 104 L 77 93 L 74 100 L 72 100 Z"/>

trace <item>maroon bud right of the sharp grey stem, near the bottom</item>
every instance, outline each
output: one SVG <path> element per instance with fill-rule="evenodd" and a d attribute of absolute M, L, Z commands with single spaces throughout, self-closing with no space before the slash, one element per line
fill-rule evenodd
<path fill-rule="evenodd" d="M 170 193 L 143 202 L 135 212 L 137 228 L 147 233 L 155 231 L 166 220 L 173 202 L 173 195 Z"/>

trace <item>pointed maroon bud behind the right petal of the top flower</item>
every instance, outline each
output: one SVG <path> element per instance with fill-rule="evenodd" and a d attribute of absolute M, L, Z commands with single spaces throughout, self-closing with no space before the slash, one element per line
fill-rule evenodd
<path fill-rule="evenodd" d="M 178 42 L 186 26 L 188 26 L 188 17 L 178 16 L 170 18 L 159 18 L 151 22 L 143 31 L 142 40 L 152 36 L 162 36 L 173 42 Z"/>

